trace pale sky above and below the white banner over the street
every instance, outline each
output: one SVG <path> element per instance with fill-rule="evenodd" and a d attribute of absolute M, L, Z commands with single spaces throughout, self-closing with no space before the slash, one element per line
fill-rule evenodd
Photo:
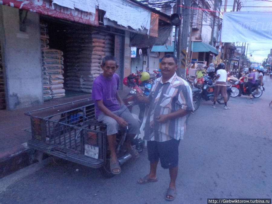
<path fill-rule="evenodd" d="M 232 11 L 233 8 L 233 0 L 227 1 L 227 12 Z M 242 2 L 242 7 L 240 11 L 271 11 L 272 12 L 272 0 L 240 0 Z M 224 9 L 225 1 L 222 1 L 222 10 Z M 266 7 L 266 6 L 271 6 Z M 272 13 L 271 13 L 272 16 Z M 271 18 L 271 17 L 269 17 Z M 267 58 L 267 55 L 270 53 L 270 49 L 272 49 L 272 41 L 271 43 L 251 43 L 247 42 L 248 45 L 248 56 L 252 54 L 252 59 L 255 62 L 262 62 Z M 246 48 L 247 48 L 246 44 Z M 236 44 L 235 44 L 236 45 Z M 237 46 L 242 46 L 242 43 L 238 43 Z M 253 61 L 251 60 L 251 61 Z"/>

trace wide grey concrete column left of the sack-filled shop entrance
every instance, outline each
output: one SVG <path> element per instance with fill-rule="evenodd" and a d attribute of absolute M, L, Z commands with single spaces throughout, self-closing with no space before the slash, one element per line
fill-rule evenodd
<path fill-rule="evenodd" d="M 0 40 L 7 109 L 43 102 L 39 14 L 28 11 L 20 31 L 19 9 L 0 5 Z"/>

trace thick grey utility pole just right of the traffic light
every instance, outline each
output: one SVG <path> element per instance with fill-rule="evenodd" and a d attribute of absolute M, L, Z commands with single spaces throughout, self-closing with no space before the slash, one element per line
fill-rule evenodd
<path fill-rule="evenodd" d="M 182 2 L 181 0 L 179 1 Z M 187 39 L 189 35 L 189 26 L 190 26 L 190 17 L 191 17 L 191 8 L 187 8 L 187 7 L 191 7 L 191 4 L 192 4 L 192 0 L 184 1 L 185 7 L 183 8 L 183 12 L 182 12 L 183 13 L 182 31 L 181 29 L 179 30 L 179 39 L 178 39 L 179 52 L 177 52 L 177 60 L 179 63 L 179 67 L 181 64 L 181 51 L 186 50 L 187 48 L 187 42 L 188 42 Z M 178 73 L 178 76 L 183 76 L 183 78 L 186 78 L 186 65 L 185 65 L 185 68 L 180 68 L 179 70 L 177 70 L 177 73 Z"/>

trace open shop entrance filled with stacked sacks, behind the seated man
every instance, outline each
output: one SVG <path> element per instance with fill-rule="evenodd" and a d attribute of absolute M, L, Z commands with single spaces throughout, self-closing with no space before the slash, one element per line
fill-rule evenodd
<path fill-rule="evenodd" d="M 44 100 L 91 94 L 93 80 L 102 73 L 100 64 L 107 55 L 120 63 L 117 74 L 121 79 L 122 35 L 43 16 L 40 29 Z"/>

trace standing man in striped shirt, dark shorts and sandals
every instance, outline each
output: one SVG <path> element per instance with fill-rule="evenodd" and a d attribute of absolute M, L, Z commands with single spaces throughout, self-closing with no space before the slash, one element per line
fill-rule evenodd
<path fill-rule="evenodd" d="M 137 99 L 150 104 L 144 128 L 147 140 L 150 173 L 138 183 L 157 181 L 156 170 L 161 166 L 169 169 L 170 184 L 165 199 L 176 197 L 178 173 L 178 146 L 183 139 L 187 114 L 194 110 L 192 90 L 189 84 L 176 75 L 177 61 L 172 54 L 165 55 L 160 64 L 162 76 L 154 81 L 149 97 L 137 94 Z"/>

